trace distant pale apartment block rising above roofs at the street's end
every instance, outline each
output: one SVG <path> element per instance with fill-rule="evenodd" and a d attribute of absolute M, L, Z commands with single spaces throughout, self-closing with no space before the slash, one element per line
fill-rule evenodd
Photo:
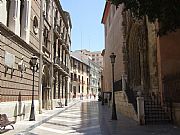
<path fill-rule="evenodd" d="M 86 56 L 90 56 L 93 62 L 103 67 L 103 56 L 101 55 L 101 51 L 91 52 L 86 49 L 82 49 L 82 50 L 76 50 L 75 52 L 81 52 L 82 54 Z"/>

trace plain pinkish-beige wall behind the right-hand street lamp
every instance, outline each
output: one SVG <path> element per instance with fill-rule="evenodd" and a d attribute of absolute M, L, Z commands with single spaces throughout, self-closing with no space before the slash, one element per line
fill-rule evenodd
<path fill-rule="evenodd" d="M 114 67 L 115 81 L 121 79 L 124 71 L 123 66 L 123 33 L 122 33 L 122 8 L 119 7 L 114 16 L 111 17 L 111 23 L 107 29 L 105 37 L 105 54 L 104 54 L 104 90 L 111 91 L 112 89 L 112 66 L 110 55 L 112 52 L 116 55 L 116 62 Z M 110 13 L 109 13 L 110 14 Z M 108 20 L 108 19 L 107 19 Z M 108 24 L 105 24 L 108 25 Z"/>

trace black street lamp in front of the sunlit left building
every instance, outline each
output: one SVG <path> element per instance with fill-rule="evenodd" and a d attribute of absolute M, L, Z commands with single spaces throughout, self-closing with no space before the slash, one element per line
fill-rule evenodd
<path fill-rule="evenodd" d="M 38 70 L 37 59 L 38 59 L 37 56 L 33 55 L 31 57 L 31 60 L 29 61 L 30 69 L 33 72 L 32 103 L 31 103 L 31 112 L 30 112 L 29 121 L 35 121 L 35 113 L 34 113 L 34 73 Z"/>

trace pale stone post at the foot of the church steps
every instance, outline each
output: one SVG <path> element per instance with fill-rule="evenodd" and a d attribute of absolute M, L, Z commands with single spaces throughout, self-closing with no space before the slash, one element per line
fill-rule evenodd
<path fill-rule="evenodd" d="M 144 97 L 137 97 L 137 112 L 138 112 L 138 121 L 140 125 L 145 124 L 144 117 Z"/>

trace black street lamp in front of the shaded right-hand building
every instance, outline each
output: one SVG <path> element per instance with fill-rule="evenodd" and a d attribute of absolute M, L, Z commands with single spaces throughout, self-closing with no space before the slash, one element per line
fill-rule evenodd
<path fill-rule="evenodd" d="M 112 64 L 112 120 L 117 120 L 116 115 L 116 104 L 115 104 L 115 96 L 114 96 L 114 63 L 116 55 L 114 53 L 111 53 L 111 64 Z"/>

